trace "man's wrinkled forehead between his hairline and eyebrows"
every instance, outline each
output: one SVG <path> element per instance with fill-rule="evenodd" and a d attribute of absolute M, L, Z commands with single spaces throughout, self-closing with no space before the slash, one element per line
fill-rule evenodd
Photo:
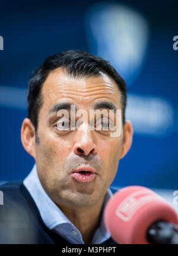
<path fill-rule="evenodd" d="M 112 77 L 106 73 L 100 76 L 72 77 L 62 68 L 49 73 L 42 87 L 43 107 L 49 109 L 56 102 L 71 102 L 80 107 L 90 107 L 93 102 L 105 99 L 120 108 L 120 91 Z"/>

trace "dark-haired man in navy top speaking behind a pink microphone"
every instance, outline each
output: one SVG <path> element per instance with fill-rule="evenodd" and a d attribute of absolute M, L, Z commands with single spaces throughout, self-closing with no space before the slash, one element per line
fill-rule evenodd
<path fill-rule="evenodd" d="M 110 136 L 111 130 L 104 129 L 111 122 L 106 112 L 99 125 L 95 117 L 94 129 L 89 117 L 78 122 L 79 129 L 72 129 L 79 116 L 72 123 L 71 106 L 88 116 L 91 110 L 113 110 L 113 123 L 116 110 L 121 110 L 120 133 Z M 109 186 L 119 160 L 132 144 L 125 107 L 124 80 L 107 61 L 86 52 L 53 55 L 34 71 L 21 142 L 36 164 L 23 183 L 0 187 L 4 242 L 114 243 L 104 226 L 103 211 L 112 196 Z M 60 111 L 67 111 L 67 118 Z M 9 233 L 14 235 L 9 238 Z"/>

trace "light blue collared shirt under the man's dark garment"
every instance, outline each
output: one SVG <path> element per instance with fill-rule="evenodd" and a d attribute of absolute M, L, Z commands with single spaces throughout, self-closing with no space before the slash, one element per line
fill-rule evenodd
<path fill-rule="evenodd" d="M 28 192 L 32 196 L 37 208 L 39 209 L 43 222 L 47 227 L 49 227 L 49 229 L 54 230 L 70 243 L 84 243 L 82 235 L 77 227 L 75 227 L 74 224 L 72 224 L 71 221 L 65 216 L 65 214 L 62 213 L 60 208 L 52 201 L 52 199 L 49 198 L 43 189 L 37 174 L 36 164 L 34 164 L 30 174 L 28 174 L 26 179 L 24 179 L 23 184 L 26 186 Z M 112 195 L 112 191 L 108 189 L 104 198 L 103 209 Z M 110 233 L 106 230 L 104 225 L 104 216 L 102 213 L 100 226 L 94 233 L 91 243 L 103 243 L 109 238 Z"/>

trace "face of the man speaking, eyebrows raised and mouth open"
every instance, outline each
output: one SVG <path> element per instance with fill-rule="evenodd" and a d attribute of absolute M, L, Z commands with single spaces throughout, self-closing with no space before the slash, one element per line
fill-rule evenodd
<path fill-rule="evenodd" d="M 74 79 L 57 68 L 47 77 L 42 96 L 35 160 L 43 188 L 58 205 L 88 207 L 97 204 L 115 178 L 123 130 L 119 137 L 111 137 L 109 131 L 90 130 L 89 124 L 83 122 L 79 130 L 62 131 L 58 129 L 62 117 L 52 110 L 54 105 L 67 102 L 74 104 L 76 111 L 86 110 L 89 117 L 93 105 L 103 101 L 121 110 L 119 88 L 104 73 Z M 93 180 L 80 182 L 72 176 L 72 170 L 81 166 L 96 169 Z"/>

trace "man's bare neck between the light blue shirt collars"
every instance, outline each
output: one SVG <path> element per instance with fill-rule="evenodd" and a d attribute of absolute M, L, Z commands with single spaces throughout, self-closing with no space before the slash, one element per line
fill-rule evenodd
<path fill-rule="evenodd" d="M 104 197 L 97 204 L 85 208 L 69 208 L 58 205 L 63 214 L 80 230 L 84 243 L 91 243 L 94 233 L 100 226 Z"/>

